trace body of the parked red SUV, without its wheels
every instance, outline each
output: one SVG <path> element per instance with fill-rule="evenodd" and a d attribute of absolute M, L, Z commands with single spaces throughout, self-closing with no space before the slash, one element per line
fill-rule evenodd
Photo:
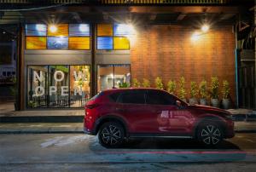
<path fill-rule="evenodd" d="M 141 94 L 145 98 L 144 103 L 125 103 L 119 100 L 120 96 L 129 99 L 129 94 L 133 94 L 137 102 L 140 97 L 135 96 Z M 152 100 L 149 100 L 150 94 Z M 160 95 L 163 100 L 164 97 L 170 99 L 170 104 L 163 101 L 164 105 L 159 105 L 155 102 L 156 99 L 161 101 Z M 160 89 L 109 89 L 89 100 L 84 108 L 84 133 L 90 135 L 96 135 L 103 123 L 116 122 L 124 128 L 125 138 L 196 138 L 196 129 L 206 120 L 218 123 L 223 138 L 235 135 L 230 112 L 211 106 L 190 106 Z"/>

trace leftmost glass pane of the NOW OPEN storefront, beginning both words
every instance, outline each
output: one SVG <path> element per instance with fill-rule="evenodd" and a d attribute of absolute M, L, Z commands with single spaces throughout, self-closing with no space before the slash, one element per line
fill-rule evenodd
<path fill-rule="evenodd" d="M 29 66 L 27 68 L 27 107 L 47 106 L 47 66 Z"/>

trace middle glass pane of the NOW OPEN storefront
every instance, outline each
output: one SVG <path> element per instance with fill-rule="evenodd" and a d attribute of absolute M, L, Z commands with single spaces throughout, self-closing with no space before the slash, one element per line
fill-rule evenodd
<path fill-rule="evenodd" d="M 68 66 L 49 66 L 49 106 L 69 106 Z"/>

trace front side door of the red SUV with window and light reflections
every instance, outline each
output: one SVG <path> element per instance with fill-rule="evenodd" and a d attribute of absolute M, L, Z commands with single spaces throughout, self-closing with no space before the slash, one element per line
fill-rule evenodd
<path fill-rule="evenodd" d="M 154 126 L 159 133 L 172 135 L 189 131 L 191 113 L 176 106 L 177 98 L 160 90 L 148 90 L 146 103 L 154 116 Z"/>

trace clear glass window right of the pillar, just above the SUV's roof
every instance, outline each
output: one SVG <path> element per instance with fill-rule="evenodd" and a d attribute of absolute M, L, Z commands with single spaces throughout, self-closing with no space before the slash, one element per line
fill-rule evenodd
<path fill-rule="evenodd" d="M 130 85 L 130 65 L 98 65 L 97 92 L 119 88 L 123 83 Z"/>

